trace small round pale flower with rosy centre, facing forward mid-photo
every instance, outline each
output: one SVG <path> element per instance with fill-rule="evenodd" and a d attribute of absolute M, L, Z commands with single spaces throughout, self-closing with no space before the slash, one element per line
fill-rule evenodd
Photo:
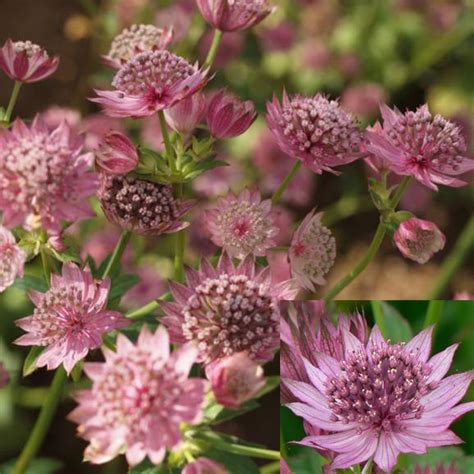
<path fill-rule="evenodd" d="M 231 257 L 264 255 L 275 246 L 278 234 L 270 213 L 271 201 L 262 201 L 258 191 L 230 193 L 219 199 L 217 208 L 206 212 L 212 241 Z"/>

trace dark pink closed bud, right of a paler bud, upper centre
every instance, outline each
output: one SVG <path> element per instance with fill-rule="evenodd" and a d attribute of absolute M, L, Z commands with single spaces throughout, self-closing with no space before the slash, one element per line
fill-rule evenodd
<path fill-rule="evenodd" d="M 252 101 L 241 102 L 225 89 L 213 94 L 207 106 L 207 126 L 214 138 L 238 137 L 248 130 L 256 118 Z"/>

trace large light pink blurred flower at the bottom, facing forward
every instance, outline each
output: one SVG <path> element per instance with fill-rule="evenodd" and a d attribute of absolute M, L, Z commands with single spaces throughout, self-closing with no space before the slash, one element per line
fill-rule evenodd
<path fill-rule="evenodd" d="M 160 464 L 181 442 L 180 424 L 202 418 L 206 381 L 189 378 L 196 355 L 192 345 L 170 354 L 166 329 L 144 326 L 136 344 L 119 334 L 116 353 L 104 349 L 104 363 L 84 364 L 92 388 L 76 393 L 69 418 L 89 441 L 85 460 L 102 464 L 125 452 L 131 466 L 147 456 Z"/>

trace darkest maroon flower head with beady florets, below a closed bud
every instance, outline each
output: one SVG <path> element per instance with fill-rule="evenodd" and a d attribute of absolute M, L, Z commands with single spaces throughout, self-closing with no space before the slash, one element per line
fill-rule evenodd
<path fill-rule="evenodd" d="M 97 197 L 110 222 L 143 235 L 184 229 L 189 224 L 180 219 L 193 206 L 192 201 L 175 198 L 171 185 L 105 173 Z"/>

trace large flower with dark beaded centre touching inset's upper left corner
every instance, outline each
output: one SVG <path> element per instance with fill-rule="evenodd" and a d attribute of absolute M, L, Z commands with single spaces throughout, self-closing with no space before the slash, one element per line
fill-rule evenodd
<path fill-rule="evenodd" d="M 206 365 L 242 351 L 257 361 L 272 359 L 280 339 L 278 303 L 296 295 L 292 281 L 273 285 L 268 268 L 257 270 L 251 257 L 234 267 L 225 253 L 217 268 L 203 260 L 199 271 L 187 269 L 186 279 L 187 286 L 170 285 L 175 302 L 161 304 L 173 342 L 198 342 Z"/>

